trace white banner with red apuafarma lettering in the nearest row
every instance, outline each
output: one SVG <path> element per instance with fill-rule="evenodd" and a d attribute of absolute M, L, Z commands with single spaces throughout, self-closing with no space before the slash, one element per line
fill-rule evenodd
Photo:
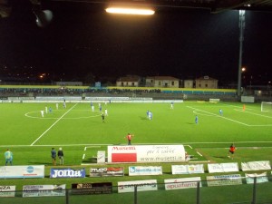
<path fill-rule="evenodd" d="M 165 189 L 189 189 L 198 188 L 198 182 L 201 181 L 200 177 L 182 178 L 164 180 Z M 201 187 L 201 182 L 200 182 Z"/>

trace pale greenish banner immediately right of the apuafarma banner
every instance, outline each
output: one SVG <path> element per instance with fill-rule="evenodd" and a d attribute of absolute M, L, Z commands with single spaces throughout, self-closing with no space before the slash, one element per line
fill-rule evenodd
<path fill-rule="evenodd" d="M 208 186 L 227 186 L 242 184 L 240 174 L 207 176 Z"/>

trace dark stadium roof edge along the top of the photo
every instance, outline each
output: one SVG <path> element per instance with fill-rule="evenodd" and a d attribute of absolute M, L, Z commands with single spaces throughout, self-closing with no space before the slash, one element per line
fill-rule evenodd
<path fill-rule="evenodd" d="M 24 3 L 22 3 L 24 2 Z M 13 5 L 18 0 L 0 0 L 0 18 L 11 15 Z M 88 4 L 92 9 L 104 9 L 105 5 L 149 5 L 157 11 L 174 11 L 177 8 L 206 9 L 211 13 L 226 10 L 252 10 L 272 12 L 272 0 L 20 0 L 20 4 L 44 5 L 50 9 L 57 5 L 59 9 L 67 3 Z M 89 7 L 89 6 L 88 6 Z"/>

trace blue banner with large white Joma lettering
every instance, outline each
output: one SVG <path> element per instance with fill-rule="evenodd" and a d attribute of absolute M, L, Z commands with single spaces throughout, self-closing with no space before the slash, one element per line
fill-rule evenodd
<path fill-rule="evenodd" d="M 50 178 L 84 178 L 85 169 L 51 169 Z"/>

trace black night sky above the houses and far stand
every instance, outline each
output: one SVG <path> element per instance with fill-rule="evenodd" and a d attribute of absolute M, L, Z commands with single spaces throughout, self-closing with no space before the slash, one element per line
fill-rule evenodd
<path fill-rule="evenodd" d="M 35 24 L 29 4 L 0 19 L 0 80 L 49 73 L 44 81 L 84 81 L 92 73 L 96 81 L 137 74 L 237 82 L 238 11 L 173 9 L 139 17 L 62 4 L 50 8 L 53 23 L 45 28 Z M 272 13 L 246 13 L 245 83 L 272 81 L 271 25 Z"/>

